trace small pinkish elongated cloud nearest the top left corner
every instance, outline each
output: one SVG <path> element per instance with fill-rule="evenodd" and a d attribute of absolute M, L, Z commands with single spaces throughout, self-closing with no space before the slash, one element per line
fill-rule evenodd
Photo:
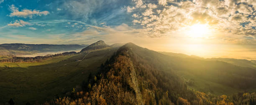
<path fill-rule="evenodd" d="M 35 16 L 42 16 L 42 15 L 48 15 L 49 11 L 39 11 L 39 10 L 28 10 L 23 9 L 19 11 L 18 7 L 15 7 L 14 5 L 10 5 L 9 9 L 12 13 L 10 13 L 10 17 L 22 17 L 22 18 L 33 18 Z"/>

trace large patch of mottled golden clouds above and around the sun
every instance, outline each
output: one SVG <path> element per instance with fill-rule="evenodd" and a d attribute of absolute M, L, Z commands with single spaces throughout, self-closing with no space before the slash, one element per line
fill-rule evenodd
<path fill-rule="evenodd" d="M 130 11 L 131 22 L 150 37 L 172 35 L 194 24 L 207 24 L 212 30 L 234 35 L 256 35 L 255 4 L 255 0 L 147 1 L 140 4 L 147 5 L 145 9 Z"/>

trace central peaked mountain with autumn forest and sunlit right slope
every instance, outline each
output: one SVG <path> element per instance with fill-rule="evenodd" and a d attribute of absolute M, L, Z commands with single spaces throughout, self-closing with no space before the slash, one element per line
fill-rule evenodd
<path fill-rule="evenodd" d="M 72 98 L 64 97 L 53 102 L 59 105 L 64 102 L 98 105 L 254 105 L 254 93 L 230 97 L 229 92 L 234 94 L 239 90 L 254 89 L 255 75 L 256 70 L 252 68 L 221 61 L 168 56 L 127 43 L 102 64 L 97 75 L 89 76 L 84 83 L 84 92 L 74 92 Z M 220 97 L 218 93 L 221 93 Z"/>

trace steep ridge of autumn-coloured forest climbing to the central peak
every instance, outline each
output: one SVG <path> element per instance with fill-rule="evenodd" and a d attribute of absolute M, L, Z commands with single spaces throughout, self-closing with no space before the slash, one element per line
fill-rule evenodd
<path fill-rule="evenodd" d="M 84 91 L 73 90 L 73 94 L 69 97 L 56 98 L 45 104 L 253 105 L 256 102 L 254 93 L 240 93 L 232 96 L 212 95 L 188 87 L 187 82 L 175 72 L 189 69 L 174 62 L 177 60 L 180 61 L 179 63 L 187 62 L 128 43 L 120 47 L 110 60 L 101 65 L 101 70 L 97 75 L 89 76 L 89 80 L 84 82 Z M 186 65 L 192 67 L 195 63 Z M 205 63 L 212 64 L 212 62 Z M 223 63 L 225 62 L 213 64 Z M 224 68 L 229 69 L 229 67 L 236 66 L 228 65 L 223 68 L 216 67 L 216 69 L 225 71 Z M 246 68 L 238 69 L 245 70 Z M 237 71 L 234 70 L 234 72 Z"/>

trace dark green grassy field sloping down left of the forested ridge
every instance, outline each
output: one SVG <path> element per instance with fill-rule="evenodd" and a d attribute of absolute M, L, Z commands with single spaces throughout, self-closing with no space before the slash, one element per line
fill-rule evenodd
<path fill-rule="evenodd" d="M 53 57 L 39 63 L 0 63 L 0 103 L 10 98 L 18 104 L 41 103 L 64 96 L 73 87 L 79 88 L 90 73 L 96 73 L 115 50 Z"/>

